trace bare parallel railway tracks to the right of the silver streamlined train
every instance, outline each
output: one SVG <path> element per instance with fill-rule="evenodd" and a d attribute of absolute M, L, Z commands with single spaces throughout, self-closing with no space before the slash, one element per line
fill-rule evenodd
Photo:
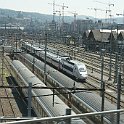
<path fill-rule="evenodd" d="M 55 46 L 55 44 L 50 45 L 50 46 L 59 49 L 59 51 L 66 51 L 66 53 L 68 53 L 68 51 L 71 51 L 70 50 L 71 48 L 68 50 L 67 46 L 63 46 L 63 47 L 62 47 L 62 45 L 61 46 L 59 46 L 59 45 Z M 101 83 L 101 65 L 100 65 L 101 64 L 101 59 L 100 59 L 100 56 L 96 55 L 96 54 L 89 55 L 89 53 L 86 53 L 84 51 L 82 52 L 82 51 L 83 50 L 79 50 L 79 52 L 76 53 L 76 56 L 74 58 L 79 59 L 80 61 L 84 62 L 87 65 L 87 68 L 89 69 L 89 71 L 88 71 L 88 77 L 89 77 L 88 80 L 89 81 L 87 80 L 86 84 L 89 84 L 90 86 L 92 86 L 94 88 L 99 88 L 100 83 Z M 73 57 L 73 55 L 72 55 L 72 57 Z M 109 58 L 108 57 L 105 57 L 104 65 L 105 65 L 105 67 L 103 68 L 104 69 L 103 79 L 104 79 L 104 82 L 106 84 L 105 89 L 109 89 L 107 91 L 112 92 L 112 94 L 116 93 L 117 92 L 117 84 L 115 84 L 115 82 L 114 82 L 115 60 L 114 59 L 112 60 L 112 67 L 113 67 L 112 70 L 113 71 L 112 71 L 112 74 L 111 74 L 112 79 L 110 81 L 109 81 Z M 123 65 L 121 65 L 121 67 L 122 66 Z M 122 72 L 122 74 L 123 74 L 123 72 Z M 122 79 L 123 79 L 123 77 L 122 77 Z M 88 83 L 88 82 L 93 82 L 93 83 L 91 84 L 91 83 Z M 123 91 L 123 89 L 122 89 L 122 91 Z M 123 94 L 123 92 L 122 92 L 122 94 Z M 115 99 L 113 96 L 111 96 L 109 94 L 108 94 L 108 96 L 109 96 L 110 100 Z M 115 101 L 116 101 L 116 99 L 115 99 Z M 111 102 L 114 102 L 114 101 L 111 101 Z M 123 105 L 123 102 L 122 102 L 122 105 Z"/>

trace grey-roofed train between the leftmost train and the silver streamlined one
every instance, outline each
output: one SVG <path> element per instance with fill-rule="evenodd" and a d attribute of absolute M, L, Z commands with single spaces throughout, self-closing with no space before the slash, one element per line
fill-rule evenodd
<path fill-rule="evenodd" d="M 32 70 L 32 65 L 33 65 L 33 59 L 34 57 L 31 56 L 30 54 L 19 54 L 17 55 L 18 59 L 21 60 L 22 62 L 24 62 L 24 64 L 26 66 L 28 66 L 28 68 L 30 68 Z M 44 63 L 38 59 L 35 58 L 35 63 L 34 63 L 34 71 L 35 74 L 37 74 L 37 76 L 39 78 L 41 78 L 41 76 L 43 77 L 44 74 Z M 49 74 L 47 75 L 47 81 L 50 83 L 50 85 L 54 86 L 54 87 L 73 87 L 73 81 L 71 79 L 69 79 L 67 76 L 63 76 L 64 74 L 58 72 L 58 71 L 54 71 L 51 68 L 47 67 L 47 71 L 49 71 Z M 42 78 L 41 78 L 42 79 Z M 75 84 L 75 86 L 77 86 Z M 96 111 L 100 111 L 101 110 L 101 97 L 97 94 L 94 94 L 93 92 L 80 92 L 80 93 L 75 93 L 75 94 L 71 94 L 71 96 L 69 97 L 66 93 L 67 91 L 65 89 L 61 89 L 59 90 L 60 93 L 63 93 L 63 95 L 69 100 L 71 98 L 71 104 L 73 104 L 75 107 L 77 107 L 81 112 L 96 112 Z M 64 99 L 64 101 L 66 101 Z M 66 102 L 68 104 L 68 102 Z M 70 103 L 68 104 L 70 105 Z M 111 109 L 109 108 L 109 105 L 105 105 L 106 106 L 106 110 L 114 110 L 116 109 L 116 107 L 112 107 L 112 104 L 110 104 Z M 115 115 L 116 116 L 116 115 Z M 107 122 L 111 122 L 113 121 L 112 118 L 115 118 L 113 116 L 113 114 L 111 116 L 106 115 L 107 117 Z M 101 119 L 101 118 L 99 118 Z M 97 119 L 95 119 L 93 117 L 93 120 L 97 121 L 99 123 L 99 121 Z M 106 124 L 110 124 L 106 123 Z"/>

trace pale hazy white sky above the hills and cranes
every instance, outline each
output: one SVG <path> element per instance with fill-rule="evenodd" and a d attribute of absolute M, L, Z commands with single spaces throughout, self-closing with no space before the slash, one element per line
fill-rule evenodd
<path fill-rule="evenodd" d="M 116 14 L 123 14 L 124 0 L 54 0 L 55 10 L 62 11 L 61 6 L 68 6 L 64 9 L 64 15 L 73 16 L 71 12 L 76 12 L 78 15 L 93 16 L 94 18 L 109 17 L 109 4 L 112 17 L 117 17 Z M 51 3 L 51 4 L 49 4 Z M 17 11 L 38 12 L 42 14 L 53 13 L 53 0 L 0 0 L 0 8 L 12 9 Z M 113 6 L 114 4 L 114 6 Z M 95 10 L 94 10 L 95 9 Z M 56 13 L 59 15 L 59 13 Z M 119 17 L 122 17 L 121 15 Z"/>

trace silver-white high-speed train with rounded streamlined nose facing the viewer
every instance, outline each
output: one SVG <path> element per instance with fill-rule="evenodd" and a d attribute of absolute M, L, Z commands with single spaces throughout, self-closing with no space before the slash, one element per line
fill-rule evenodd
<path fill-rule="evenodd" d="M 38 46 L 33 46 L 24 42 L 22 48 L 30 53 L 35 53 L 35 55 L 40 59 L 45 60 L 45 51 L 43 46 L 42 48 L 39 48 Z M 62 70 L 75 77 L 77 80 L 85 80 L 88 76 L 85 64 L 77 60 L 72 60 L 69 56 L 60 56 L 47 49 L 46 61 L 58 70 Z"/>

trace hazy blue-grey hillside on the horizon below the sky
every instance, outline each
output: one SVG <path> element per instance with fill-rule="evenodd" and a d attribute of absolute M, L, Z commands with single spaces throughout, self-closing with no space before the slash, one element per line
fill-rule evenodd
<path fill-rule="evenodd" d="M 27 26 L 33 21 L 34 24 L 43 24 L 45 22 L 51 22 L 53 19 L 52 15 L 41 14 L 36 12 L 23 12 L 23 11 L 15 11 L 10 9 L 0 9 L 0 25 L 12 24 L 12 25 L 20 25 Z M 77 15 L 77 19 L 91 19 L 94 20 L 92 16 L 85 15 Z M 74 20 L 73 16 L 65 16 L 65 22 L 71 23 Z M 105 19 L 98 19 L 103 22 Z M 116 23 L 123 23 L 122 17 L 114 18 Z M 59 21 L 59 16 L 55 16 L 55 21 Z"/>

